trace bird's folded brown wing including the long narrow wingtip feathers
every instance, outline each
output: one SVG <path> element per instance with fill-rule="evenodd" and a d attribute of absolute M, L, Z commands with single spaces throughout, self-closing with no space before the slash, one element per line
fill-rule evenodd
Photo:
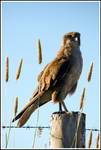
<path fill-rule="evenodd" d="M 34 91 L 25 108 L 31 106 L 38 97 L 42 96 L 49 88 L 55 86 L 59 80 L 62 80 L 62 78 L 69 72 L 72 63 L 73 62 L 69 57 L 68 59 L 60 58 L 53 60 L 48 67 L 44 69 L 39 80 L 39 86 Z"/>

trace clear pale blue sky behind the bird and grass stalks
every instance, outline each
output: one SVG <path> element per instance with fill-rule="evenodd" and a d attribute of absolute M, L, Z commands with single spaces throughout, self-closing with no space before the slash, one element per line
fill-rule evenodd
<path fill-rule="evenodd" d="M 98 2 L 2 2 L 2 125 L 9 125 L 12 99 L 18 96 L 18 112 L 31 97 L 37 86 L 37 76 L 60 48 L 62 36 L 71 31 L 81 33 L 83 71 L 74 95 L 65 103 L 70 111 L 79 110 L 82 89 L 86 88 L 84 109 L 86 128 L 100 127 L 99 98 L 99 3 Z M 42 47 L 42 64 L 38 64 L 37 40 Z M 9 81 L 4 81 L 5 57 L 9 57 Z M 19 60 L 23 58 L 21 75 L 16 82 Z M 87 82 L 90 63 L 93 61 L 91 82 Z M 58 111 L 52 101 L 39 109 L 39 126 L 49 126 L 50 116 Z M 26 126 L 35 126 L 37 110 Z M 12 125 L 16 125 L 17 122 Z M 2 130 L 2 148 L 5 147 Z M 86 132 L 86 141 L 88 139 Z M 95 147 L 97 132 L 93 132 Z M 34 129 L 12 129 L 8 148 L 31 148 Z M 23 138 L 23 140 L 22 140 Z M 47 144 L 47 145 L 46 145 Z M 87 142 L 86 142 L 87 144 Z M 35 148 L 49 146 L 49 129 L 36 138 Z"/>

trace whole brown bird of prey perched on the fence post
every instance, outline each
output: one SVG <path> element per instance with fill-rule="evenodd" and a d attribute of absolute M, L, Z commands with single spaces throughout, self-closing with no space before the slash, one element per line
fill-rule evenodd
<path fill-rule="evenodd" d="M 50 100 L 54 104 L 63 104 L 67 110 L 63 100 L 75 92 L 82 66 L 80 33 L 66 33 L 56 57 L 40 72 L 38 86 L 31 98 L 12 121 L 19 119 L 17 126 L 23 126 L 38 107 Z"/>

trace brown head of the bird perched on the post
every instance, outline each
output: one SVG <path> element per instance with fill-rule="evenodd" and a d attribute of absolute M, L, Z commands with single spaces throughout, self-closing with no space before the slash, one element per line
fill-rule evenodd
<path fill-rule="evenodd" d="M 80 33 L 69 32 L 66 33 L 62 38 L 62 45 L 77 45 L 80 46 Z"/>

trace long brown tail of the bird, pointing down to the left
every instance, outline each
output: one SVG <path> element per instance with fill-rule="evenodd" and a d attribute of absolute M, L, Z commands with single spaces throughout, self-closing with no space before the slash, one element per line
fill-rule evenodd
<path fill-rule="evenodd" d="M 50 91 L 47 92 L 41 92 L 37 94 L 35 97 L 31 97 L 30 100 L 25 104 L 23 109 L 20 111 L 20 113 L 12 120 L 14 122 L 15 120 L 19 119 L 17 126 L 22 127 L 31 114 L 40 106 L 50 101 Z"/>

